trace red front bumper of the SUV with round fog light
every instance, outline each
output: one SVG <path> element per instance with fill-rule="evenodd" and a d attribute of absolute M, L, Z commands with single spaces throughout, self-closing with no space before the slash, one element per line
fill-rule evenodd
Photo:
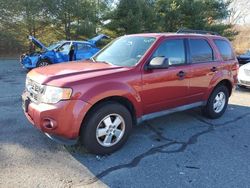
<path fill-rule="evenodd" d="M 35 104 L 28 101 L 26 93 L 23 93 L 22 99 L 27 119 L 50 138 L 61 137 L 70 140 L 78 138 L 82 120 L 91 107 L 81 100 Z"/>

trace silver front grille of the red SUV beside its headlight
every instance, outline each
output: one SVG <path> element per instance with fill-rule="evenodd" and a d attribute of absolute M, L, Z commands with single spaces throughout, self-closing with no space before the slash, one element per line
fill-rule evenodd
<path fill-rule="evenodd" d="M 26 79 L 26 91 L 32 102 L 38 103 L 39 94 L 42 92 L 41 84 L 27 78 Z"/>

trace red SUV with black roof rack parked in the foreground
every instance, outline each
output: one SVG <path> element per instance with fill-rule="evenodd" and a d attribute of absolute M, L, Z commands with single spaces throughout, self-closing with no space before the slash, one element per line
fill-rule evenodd
<path fill-rule="evenodd" d="M 237 71 L 230 42 L 219 35 L 126 35 L 88 61 L 29 72 L 23 108 L 50 138 L 80 138 L 89 152 L 105 154 L 144 120 L 198 106 L 207 117 L 220 117 Z"/>

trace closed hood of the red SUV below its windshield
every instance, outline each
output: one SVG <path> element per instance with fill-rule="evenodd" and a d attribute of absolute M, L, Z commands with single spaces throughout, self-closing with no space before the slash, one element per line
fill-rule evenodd
<path fill-rule="evenodd" d="M 27 77 L 41 84 L 64 86 L 74 81 L 117 72 L 119 69 L 125 70 L 128 68 L 99 62 L 93 63 L 92 61 L 70 62 L 33 69 Z"/>

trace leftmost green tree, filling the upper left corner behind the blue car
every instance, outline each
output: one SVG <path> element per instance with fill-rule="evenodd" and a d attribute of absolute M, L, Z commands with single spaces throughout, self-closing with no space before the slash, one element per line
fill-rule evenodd
<path fill-rule="evenodd" d="M 41 5 L 41 0 L 1 0 L 0 11 L 3 14 L 0 16 L 0 32 L 6 36 L 5 42 L 10 38 L 10 41 L 15 41 L 19 46 L 22 41 L 27 41 L 28 35 L 36 36 L 36 31 L 43 26 Z"/>

